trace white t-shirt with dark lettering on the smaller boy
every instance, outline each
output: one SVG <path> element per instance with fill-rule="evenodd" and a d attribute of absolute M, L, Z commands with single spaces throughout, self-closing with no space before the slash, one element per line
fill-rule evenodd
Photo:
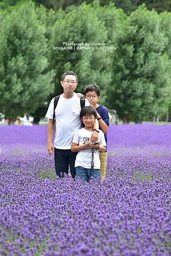
<path fill-rule="evenodd" d="M 83 145 L 87 141 L 90 141 L 92 133 L 93 131 L 87 131 L 84 128 L 79 129 L 75 132 L 72 142 Z M 106 146 L 104 133 L 101 130 L 99 131 L 99 141 L 99 145 Z M 94 148 L 94 169 L 100 169 L 99 151 L 99 149 Z M 75 159 L 75 167 L 82 166 L 91 169 L 92 152 L 92 148 L 85 148 L 79 151 Z"/>

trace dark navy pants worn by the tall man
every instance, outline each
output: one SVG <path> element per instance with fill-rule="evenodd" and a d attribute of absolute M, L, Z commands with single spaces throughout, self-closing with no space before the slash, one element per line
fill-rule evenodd
<path fill-rule="evenodd" d="M 71 149 L 58 149 L 55 148 L 55 171 L 56 175 L 61 177 L 64 176 L 64 173 L 68 174 L 68 168 L 70 165 L 70 172 L 72 178 L 75 178 L 75 158 L 77 152 L 72 152 Z"/>

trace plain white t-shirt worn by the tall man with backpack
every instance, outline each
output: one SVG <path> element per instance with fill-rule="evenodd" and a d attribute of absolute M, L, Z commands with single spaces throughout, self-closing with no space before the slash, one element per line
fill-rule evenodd
<path fill-rule="evenodd" d="M 50 102 L 46 117 L 53 119 L 54 99 Z M 90 103 L 85 99 L 85 106 Z M 55 109 L 56 131 L 54 146 L 59 149 L 70 149 L 72 144 L 72 137 L 76 130 L 81 126 L 81 105 L 80 98 L 74 93 L 70 99 L 65 99 L 63 95 L 59 97 L 58 104 Z"/>

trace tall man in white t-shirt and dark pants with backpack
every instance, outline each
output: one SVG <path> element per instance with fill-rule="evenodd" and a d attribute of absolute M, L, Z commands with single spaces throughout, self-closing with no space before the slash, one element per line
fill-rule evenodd
<path fill-rule="evenodd" d="M 55 125 L 53 127 L 53 112 L 54 112 L 54 99 L 50 102 L 46 117 L 49 118 L 48 122 L 48 154 L 52 155 L 55 151 L 55 171 L 56 175 L 62 177 L 64 173 L 68 174 L 68 168 L 70 165 L 70 172 L 72 178 L 75 178 L 75 158 L 77 152 L 71 151 L 72 137 L 76 130 L 81 128 L 81 105 L 80 99 L 74 93 L 78 86 L 78 77 L 72 72 L 65 72 L 61 79 L 61 86 L 64 89 L 64 93 L 58 100 L 57 107 L 55 109 Z M 85 106 L 90 105 L 87 99 L 85 100 Z M 99 123 L 96 120 L 93 126 L 95 130 L 91 136 L 92 141 L 97 141 L 99 136 Z M 53 134 L 55 131 L 54 145 L 52 143 Z"/>

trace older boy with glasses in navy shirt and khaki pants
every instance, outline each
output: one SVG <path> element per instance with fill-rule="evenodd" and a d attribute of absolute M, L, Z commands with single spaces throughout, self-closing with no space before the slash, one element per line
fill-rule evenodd
<path fill-rule="evenodd" d="M 110 119 L 109 119 L 108 109 L 105 106 L 97 103 L 100 100 L 100 88 L 96 84 L 87 85 L 84 89 L 83 94 L 86 97 L 86 99 L 89 101 L 89 103 L 93 105 L 94 108 L 96 108 L 97 120 L 99 121 L 99 128 L 101 129 L 101 131 L 104 132 L 104 137 L 107 145 L 107 130 L 109 127 Z M 100 165 L 101 179 L 103 180 L 106 174 L 107 148 L 105 152 L 100 149 L 99 158 L 101 163 Z"/>

